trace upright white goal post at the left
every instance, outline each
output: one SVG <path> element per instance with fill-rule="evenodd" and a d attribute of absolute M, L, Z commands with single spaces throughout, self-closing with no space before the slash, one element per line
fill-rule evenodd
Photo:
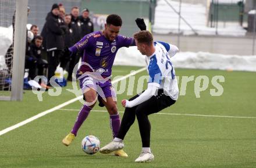
<path fill-rule="evenodd" d="M 28 0 L 16 0 L 11 101 L 21 101 L 23 98 L 27 38 L 27 4 Z"/>

